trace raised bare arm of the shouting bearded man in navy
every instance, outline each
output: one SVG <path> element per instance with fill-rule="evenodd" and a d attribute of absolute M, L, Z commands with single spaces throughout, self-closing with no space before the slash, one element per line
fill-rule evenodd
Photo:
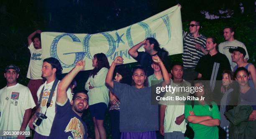
<path fill-rule="evenodd" d="M 67 88 L 77 73 L 84 70 L 84 66 L 85 62 L 83 60 L 77 62 L 76 66 L 59 82 L 56 102 L 64 104 L 67 101 Z"/>

